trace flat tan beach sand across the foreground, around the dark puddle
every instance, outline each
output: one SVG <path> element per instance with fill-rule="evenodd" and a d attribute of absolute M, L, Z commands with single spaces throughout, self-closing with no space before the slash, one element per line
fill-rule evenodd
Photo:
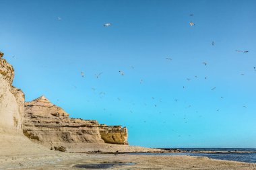
<path fill-rule="evenodd" d="M 1 156 L 0 169 L 83 169 L 77 164 L 135 163 L 108 169 L 256 169 L 256 164 L 177 155 L 127 155 L 51 152 L 41 155 Z"/>

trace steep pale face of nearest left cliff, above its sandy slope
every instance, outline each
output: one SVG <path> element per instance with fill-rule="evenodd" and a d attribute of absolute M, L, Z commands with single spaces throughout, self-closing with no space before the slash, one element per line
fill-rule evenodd
<path fill-rule="evenodd" d="M 0 52 L 0 128 L 21 130 L 24 93 L 12 86 L 14 70 Z"/>

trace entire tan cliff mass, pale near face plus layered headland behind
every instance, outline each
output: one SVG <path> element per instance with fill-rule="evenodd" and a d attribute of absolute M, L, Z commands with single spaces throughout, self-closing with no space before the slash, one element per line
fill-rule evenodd
<path fill-rule="evenodd" d="M 25 102 L 24 93 L 12 85 L 13 67 L 2 57 L 0 52 L 0 156 L 49 152 L 32 141 L 57 151 L 67 144 L 127 144 L 127 128 L 69 118 L 44 96 Z"/>

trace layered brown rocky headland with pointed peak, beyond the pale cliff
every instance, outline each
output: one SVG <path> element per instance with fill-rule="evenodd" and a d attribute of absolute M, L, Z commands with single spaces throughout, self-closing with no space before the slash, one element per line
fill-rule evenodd
<path fill-rule="evenodd" d="M 127 128 L 69 118 L 44 96 L 25 103 L 23 132 L 31 140 L 50 146 L 86 142 L 127 144 Z"/>

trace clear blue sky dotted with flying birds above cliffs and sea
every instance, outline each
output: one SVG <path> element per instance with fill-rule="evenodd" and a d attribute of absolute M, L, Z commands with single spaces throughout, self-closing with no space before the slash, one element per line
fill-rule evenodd
<path fill-rule="evenodd" d="M 127 126 L 132 145 L 256 147 L 256 1 L 0 7 L 0 50 L 26 101 L 45 95 L 73 118 Z"/>

